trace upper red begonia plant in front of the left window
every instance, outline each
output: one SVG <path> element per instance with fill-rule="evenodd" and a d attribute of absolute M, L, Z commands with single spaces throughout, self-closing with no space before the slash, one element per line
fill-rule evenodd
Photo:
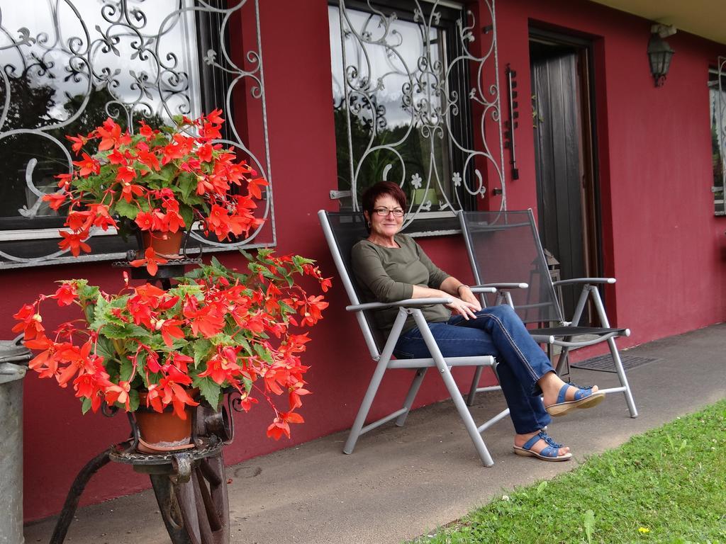
<path fill-rule="evenodd" d="M 60 191 L 44 197 L 54 210 L 69 205 L 61 249 L 75 256 L 89 252 L 91 228 L 124 231 L 117 218 L 151 233 L 176 233 L 200 221 L 205 234 L 221 241 L 246 236 L 262 223 L 253 210 L 267 182 L 245 161 L 237 162 L 231 148 L 213 144 L 221 138 L 221 110 L 174 121 L 158 130 L 141 121 L 131 134 L 108 118 L 86 136 L 66 136 L 80 159 L 73 161 L 73 172 L 56 176 Z M 97 152 L 88 154 L 83 149 L 94 141 Z M 166 262 L 153 250 L 144 257 L 139 265 Z"/>

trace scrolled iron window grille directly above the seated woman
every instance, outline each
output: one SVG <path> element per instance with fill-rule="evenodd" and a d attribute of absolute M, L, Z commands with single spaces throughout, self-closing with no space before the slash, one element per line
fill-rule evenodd
<path fill-rule="evenodd" d="M 411 197 L 404 228 L 423 212 L 465 208 L 488 185 L 501 187 L 505 209 L 494 0 L 481 2 L 483 32 L 450 2 L 411 0 L 407 17 L 350 4 L 330 7 L 338 189 L 350 190 L 349 206 L 387 179 Z M 472 51 L 478 40 L 484 54 Z"/>

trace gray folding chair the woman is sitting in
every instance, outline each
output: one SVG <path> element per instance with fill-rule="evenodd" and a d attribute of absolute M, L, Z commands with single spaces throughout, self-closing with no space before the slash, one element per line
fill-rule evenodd
<path fill-rule="evenodd" d="M 376 427 L 387 423 L 393 419 L 396 420 L 396 425 L 403 426 L 408 416 L 409 410 L 414 402 L 416 394 L 423 382 L 423 376 L 428 368 L 435 367 L 437 374 L 444 380 L 446 389 L 449 391 L 454 406 L 456 406 L 459 415 L 464 422 L 471 440 L 474 442 L 474 448 L 481 458 L 481 462 L 485 466 L 492 466 L 492 456 L 489 455 L 489 450 L 484 445 L 484 440 L 481 438 L 481 432 L 492 426 L 500 419 L 507 416 L 509 410 L 502 411 L 501 413 L 494 416 L 492 419 L 487 421 L 484 425 L 476 426 L 474 420 L 468 410 L 466 403 L 462 397 L 462 394 L 454 382 L 454 378 L 451 374 L 451 369 L 454 366 L 476 366 L 478 369 L 489 366 L 494 368 L 494 357 L 484 355 L 481 357 L 449 357 L 444 358 L 441 355 L 439 347 L 436 345 L 436 340 L 433 338 L 431 331 L 426 326 L 426 322 L 421 313 L 420 307 L 423 305 L 430 304 L 447 304 L 452 301 L 450 298 L 431 298 L 431 299 L 409 299 L 401 300 L 399 302 L 391 303 L 380 303 L 380 302 L 367 302 L 361 303 L 357 286 L 352 280 L 351 274 L 351 248 L 356 242 L 367 236 L 367 231 L 364 227 L 363 218 L 359 213 L 335 213 L 326 212 L 320 210 L 318 212 L 318 218 L 322 226 L 322 230 L 325 233 L 325 239 L 330 247 L 330 252 L 333 254 L 333 260 L 335 266 L 338 268 L 340 274 L 340 281 L 343 283 L 343 287 L 346 289 L 348 299 L 351 304 L 346 306 L 346 310 L 355 312 L 358 324 L 363 333 L 368 350 L 370 351 L 371 358 L 376 362 L 375 371 L 372 379 L 368 386 L 368 390 L 363 398 L 363 402 L 356 416 L 356 420 L 353 424 L 348 440 L 343 447 L 344 453 L 353 453 L 356 441 L 358 438 Z M 495 292 L 495 289 L 484 287 L 477 289 L 477 292 Z M 393 329 L 388 334 L 388 338 L 383 338 L 375 324 L 372 321 L 371 316 L 368 315 L 370 310 L 376 310 L 380 308 L 390 308 L 391 306 L 397 306 L 399 308 L 398 316 L 396 321 L 393 323 Z M 431 353 L 431 358 L 428 359 L 393 359 L 393 347 L 396 345 L 396 341 L 399 339 L 401 329 L 403 329 L 404 322 L 407 316 L 413 316 L 417 325 L 419 326 L 424 342 Z M 378 421 L 373 421 L 369 424 L 365 424 L 365 420 L 370 411 L 370 407 L 375 398 L 375 394 L 378 391 L 378 386 L 383 379 L 383 374 L 389 369 L 404 368 L 415 371 L 415 376 L 411 382 L 408 393 L 404 399 L 403 407 L 393 413 L 385 416 Z M 481 390 L 500 390 L 499 386 L 492 386 L 482 388 Z"/>

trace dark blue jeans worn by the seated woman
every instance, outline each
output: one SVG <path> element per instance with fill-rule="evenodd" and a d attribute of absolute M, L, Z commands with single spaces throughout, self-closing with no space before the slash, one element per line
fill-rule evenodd
<path fill-rule="evenodd" d="M 537 380 L 553 370 L 550 360 L 529 335 L 524 323 L 508 305 L 490 306 L 468 321 L 452 316 L 449 321 L 428 323 L 444 357 L 494 355 L 510 417 L 518 434 L 539 431 L 550 424 Z M 428 358 L 418 327 L 401 334 L 396 357 Z"/>

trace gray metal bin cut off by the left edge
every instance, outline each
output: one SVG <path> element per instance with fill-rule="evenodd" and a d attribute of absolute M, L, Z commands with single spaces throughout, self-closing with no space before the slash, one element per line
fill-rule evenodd
<path fill-rule="evenodd" d="M 20 339 L 0 341 L 0 544 L 23 544 L 23 376 Z"/>

